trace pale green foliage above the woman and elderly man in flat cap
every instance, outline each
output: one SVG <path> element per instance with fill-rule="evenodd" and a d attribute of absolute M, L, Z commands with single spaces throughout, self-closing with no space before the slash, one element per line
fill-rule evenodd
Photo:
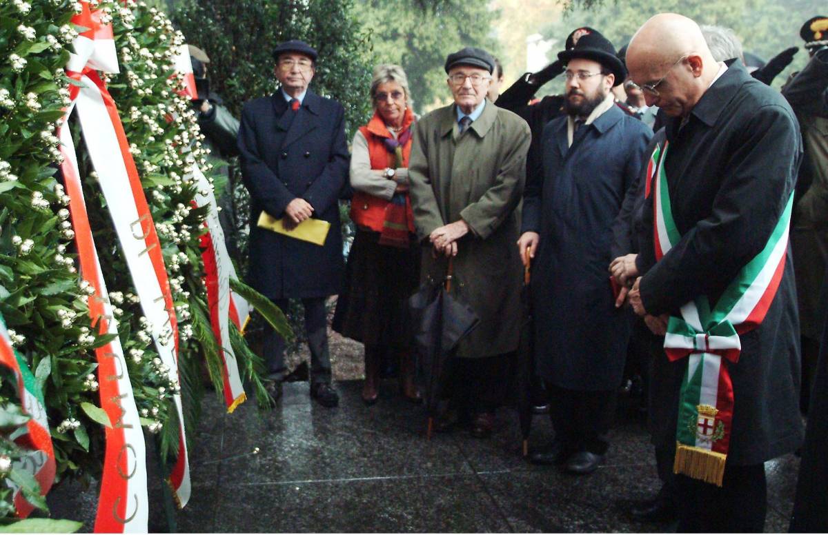
<path fill-rule="evenodd" d="M 446 55 L 464 46 L 499 52 L 491 31 L 498 12 L 489 10 L 488 2 L 368 0 L 354 3 L 354 16 L 371 32 L 375 63 L 406 70 L 420 113 L 448 102 Z M 361 92 L 368 102 L 368 84 Z"/>

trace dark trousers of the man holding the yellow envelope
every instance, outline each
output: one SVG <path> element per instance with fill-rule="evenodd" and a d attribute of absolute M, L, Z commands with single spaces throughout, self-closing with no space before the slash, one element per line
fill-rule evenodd
<path fill-rule="evenodd" d="M 287 310 L 287 299 L 272 299 L 273 304 Z M 305 307 L 305 334 L 310 348 L 310 380 L 330 383 L 330 352 L 328 351 L 328 315 L 325 298 L 302 299 Z M 285 340 L 265 322 L 262 349 L 267 371 L 273 380 L 285 378 Z"/>

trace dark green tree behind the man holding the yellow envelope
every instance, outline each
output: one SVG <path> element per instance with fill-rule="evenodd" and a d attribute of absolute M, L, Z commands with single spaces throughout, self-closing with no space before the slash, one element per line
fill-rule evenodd
<path fill-rule="evenodd" d="M 209 55 L 210 88 L 236 116 L 245 101 L 276 89 L 273 48 L 301 39 L 319 51 L 311 88 L 345 107 L 349 131 L 367 117 L 370 41 L 351 0 L 186 0 L 172 20 Z"/>

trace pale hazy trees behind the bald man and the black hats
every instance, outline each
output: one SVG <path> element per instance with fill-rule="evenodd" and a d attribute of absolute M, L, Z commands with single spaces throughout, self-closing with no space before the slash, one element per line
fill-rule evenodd
<path fill-rule="evenodd" d="M 573 28 L 591 26 L 620 48 L 629 42 L 649 17 L 675 12 L 699 24 L 732 28 L 742 40 L 746 52 L 753 52 L 767 61 L 789 46 L 801 46 L 800 26 L 821 12 L 821 7 L 824 7 L 824 2 L 817 0 L 571 0 L 567 2 L 564 16 L 546 26 L 541 33 L 547 38 L 555 37 L 562 41 Z M 801 69 L 806 62 L 804 52 L 794 56 L 793 63 L 774 80 L 774 87 L 780 87 L 788 74 Z M 562 84 L 550 85 L 553 90 L 560 91 Z"/>

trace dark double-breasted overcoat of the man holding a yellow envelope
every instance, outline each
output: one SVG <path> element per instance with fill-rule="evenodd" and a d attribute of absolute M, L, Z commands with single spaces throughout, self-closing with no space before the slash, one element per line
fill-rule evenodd
<path fill-rule="evenodd" d="M 244 105 L 238 130 L 242 177 L 250 192 L 248 282 L 271 299 L 339 293 L 344 274 L 339 194 L 348 179 L 344 109 L 310 89 L 296 112 L 282 92 Z M 324 246 L 258 228 L 262 210 L 282 217 L 304 198 L 330 222 Z"/>

